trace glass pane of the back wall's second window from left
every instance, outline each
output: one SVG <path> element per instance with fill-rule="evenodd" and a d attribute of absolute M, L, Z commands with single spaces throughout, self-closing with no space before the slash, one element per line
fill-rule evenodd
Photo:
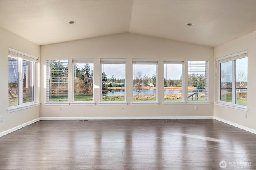
<path fill-rule="evenodd" d="M 76 63 L 74 69 L 74 101 L 93 101 L 93 63 Z"/>

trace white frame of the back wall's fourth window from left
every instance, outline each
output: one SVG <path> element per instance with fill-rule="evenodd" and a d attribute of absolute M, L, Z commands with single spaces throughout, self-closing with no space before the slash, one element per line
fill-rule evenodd
<path fill-rule="evenodd" d="M 133 68 L 135 64 L 153 64 L 156 66 L 156 100 L 134 101 L 133 100 Z M 158 105 L 158 59 L 132 59 L 132 102 L 131 105 Z"/>

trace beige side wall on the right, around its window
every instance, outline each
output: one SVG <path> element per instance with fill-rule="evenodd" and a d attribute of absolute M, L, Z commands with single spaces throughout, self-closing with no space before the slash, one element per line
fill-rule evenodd
<path fill-rule="evenodd" d="M 214 116 L 256 130 L 256 32 L 214 48 L 214 58 L 248 50 L 248 112 L 214 105 Z M 218 76 L 214 102 L 218 102 Z M 247 118 L 244 117 L 247 113 Z"/>

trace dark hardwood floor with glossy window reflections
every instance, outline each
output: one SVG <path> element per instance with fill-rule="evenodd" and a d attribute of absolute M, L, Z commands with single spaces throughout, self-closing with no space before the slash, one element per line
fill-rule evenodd
<path fill-rule="evenodd" d="M 0 145 L 1 170 L 256 169 L 256 135 L 214 119 L 38 121 Z"/>

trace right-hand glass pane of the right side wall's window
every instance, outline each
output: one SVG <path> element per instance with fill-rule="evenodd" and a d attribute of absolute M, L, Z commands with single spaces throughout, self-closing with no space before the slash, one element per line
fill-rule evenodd
<path fill-rule="evenodd" d="M 236 60 L 236 103 L 247 105 L 247 57 Z"/>

